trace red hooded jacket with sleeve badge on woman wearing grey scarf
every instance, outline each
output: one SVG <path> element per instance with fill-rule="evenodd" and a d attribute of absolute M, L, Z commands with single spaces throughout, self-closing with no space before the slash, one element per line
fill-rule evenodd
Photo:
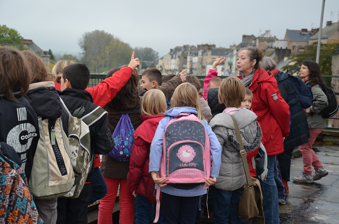
<path fill-rule="evenodd" d="M 242 79 L 243 75 L 238 76 Z M 290 107 L 281 97 L 277 80 L 258 68 L 248 87 L 253 93 L 252 109 L 258 116 L 267 156 L 284 152 L 283 137 L 290 133 Z"/>

